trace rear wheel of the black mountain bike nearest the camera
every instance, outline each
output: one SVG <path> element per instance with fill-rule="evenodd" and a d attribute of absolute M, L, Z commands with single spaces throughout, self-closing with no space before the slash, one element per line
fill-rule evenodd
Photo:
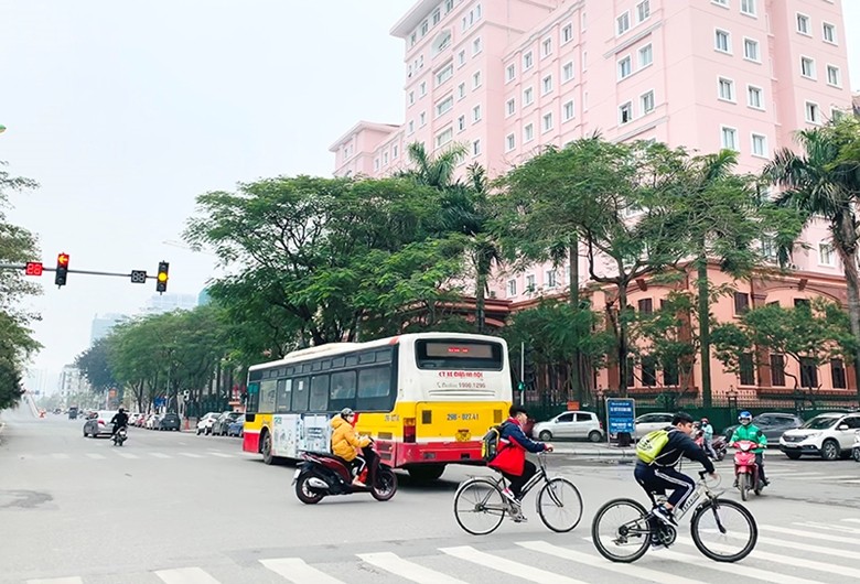
<path fill-rule="evenodd" d="M 648 512 L 633 499 L 613 499 L 594 515 L 591 538 L 606 560 L 635 562 L 651 545 Z"/>

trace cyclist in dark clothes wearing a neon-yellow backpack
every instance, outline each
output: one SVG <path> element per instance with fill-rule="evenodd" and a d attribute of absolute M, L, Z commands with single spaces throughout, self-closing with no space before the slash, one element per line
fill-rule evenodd
<path fill-rule="evenodd" d="M 671 425 L 667 426 L 665 431 L 668 441 L 658 452 L 654 453 L 652 463 L 637 461 L 633 475 L 645 493 L 649 495 L 652 493 L 666 495 L 666 489 L 671 490 L 669 499 L 654 508 L 654 516 L 665 523 L 677 524 L 673 509 L 678 505 L 684 505 L 684 501 L 696 488 L 696 482 L 692 478 L 675 469 L 681 457 L 701 463 L 711 478 L 717 478 L 717 475 L 711 459 L 690 437 L 692 418 L 688 413 L 676 413 L 671 419 Z M 652 543 L 655 541 L 653 540 Z"/>

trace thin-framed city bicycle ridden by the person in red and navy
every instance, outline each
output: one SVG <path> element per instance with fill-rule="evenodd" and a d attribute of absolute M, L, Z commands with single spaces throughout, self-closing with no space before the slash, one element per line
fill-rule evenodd
<path fill-rule="evenodd" d="M 538 454 L 538 472 L 523 487 L 523 497 L 541 482 L 537 496 L 540 520 L 559 533 L 572 530 L 582 519 L 582 497 L 567 478 L 549 477 L 545 453 Z M 502 524 L 506 513 L 516 518 L 519 509 L 502 494 L 505 487 L 501 474 L 496 479 L 473 477 L 460 485 L 454 496 L 454 517 L 460 527 L 473 536 L 486 536 Z"/>

